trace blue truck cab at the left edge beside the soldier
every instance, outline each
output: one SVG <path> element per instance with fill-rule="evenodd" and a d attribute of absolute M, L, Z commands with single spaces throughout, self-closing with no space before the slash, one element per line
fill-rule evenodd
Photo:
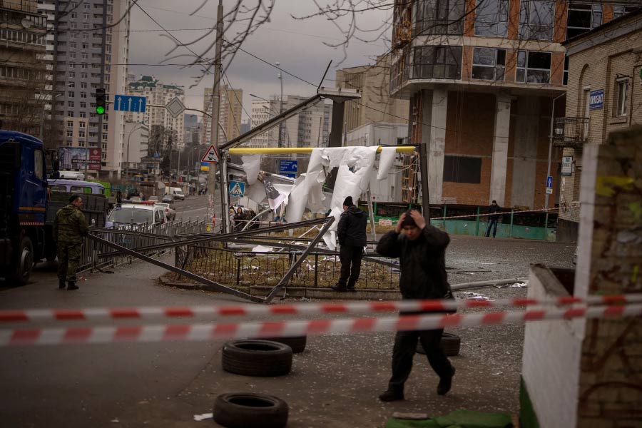
<path fill-rule="evenodd" d="M 44 253 L 47 212 L 42 141 L 0 131 L 0 277 L 24 283 Z"/>

